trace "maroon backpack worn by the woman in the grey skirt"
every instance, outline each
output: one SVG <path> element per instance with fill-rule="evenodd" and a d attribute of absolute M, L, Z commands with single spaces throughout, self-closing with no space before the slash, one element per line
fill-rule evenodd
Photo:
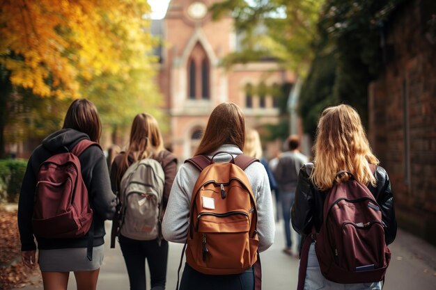
<path fill-rule="evenodd" d="M 81 140 L 71 152 L 54 154 L 40 165 L 32 219 L 36 236 L 76 238 L 90 229 L 93 210 L 77 156 L 91 145 L 98 143 Z"/>

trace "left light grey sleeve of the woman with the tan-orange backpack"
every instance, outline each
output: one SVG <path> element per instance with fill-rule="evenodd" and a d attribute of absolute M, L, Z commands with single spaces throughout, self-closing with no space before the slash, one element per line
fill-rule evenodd
<path fill-rule="evenodd" d="M 191 205 L 189 191 L 192 191 L 192 188 L 187 188 L 189 176 L 187 166 L 189 165 L 182 165 L 176 174 L 166 205 L 164 220 L 162 220 L 164 239 L 175 243 L 185 243 L 189 227 L 189 207 Z"/>

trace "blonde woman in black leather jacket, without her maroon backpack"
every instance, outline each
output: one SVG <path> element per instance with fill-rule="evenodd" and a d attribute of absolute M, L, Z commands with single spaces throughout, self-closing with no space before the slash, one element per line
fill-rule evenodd
<path fill-rule="evenodd" d="M 291 212 L 294 229 L 303 236 L 310 234 L 312 227 L 319 232 L 327 192 L 334 185 L 336 173 L 347 170 L 358 182 L 366 184 L 374 195 L 382 209 L 382 220 L 387 225 L 385 241 L 387 244 L 392 243 L 397 225 L 391 184 L 387 172 L 377 165 L 379 161 L 371 152 L 357 111 L 345 104 L 326 108 L 318 121 L 313 149 L 314 162 L 306 163 L 299 170 L 295 203 Z M 370 164 L 376 166 L 374 173 Z M 340 182 L 348 179 L 348 175 L 342 175 Z M 304 289 L 318 289 L 316 285 L 324 285 L 322 289 L 381 289 L 381 282 L 337 284 L 325 279 L 313 243 L 307 263 Z"/>

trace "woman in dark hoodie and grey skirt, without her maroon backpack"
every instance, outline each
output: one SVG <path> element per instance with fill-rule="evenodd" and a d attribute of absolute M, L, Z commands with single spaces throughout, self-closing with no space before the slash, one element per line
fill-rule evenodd
<path fill-rule="evenodd" d="M 99 146 L 91 145 L 79 155 L 81 175 L 93 209 L 92 260 L 89 261 L 86 255 L 88 234 L 72 239 L 42 238 L 33 233 L 32 217 L 40 164 L 54 154 L 67 150 L 70 152 L 80 140 L 88 139 L 98 143 L 100 135 L 101 123 L 97 108 L 87 99 L 77 99 L 68 108 L 63 128 L 47 136 L 33 151 L 27 164 L 18 203 L 22 261 L 29 267 L 35 265 L 36 238 L 38 264 L 45 290 L 66 290 L 70 271 L 75 273 L 77 289 L 91 290 L 97 287 L 103 259 L 104 220 L 112 219 L 116 206 L 106 159 Z"/>

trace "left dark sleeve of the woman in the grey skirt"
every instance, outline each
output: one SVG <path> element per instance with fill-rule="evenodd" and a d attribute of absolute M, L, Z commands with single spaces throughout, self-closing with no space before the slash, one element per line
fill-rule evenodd
<path fill-rule="evenodd" d="M 20 199 L 18 200 L 18 229 L 20 231 L 21 250 L 34 251 L 36 244 L 33 238 L 32 216 L 33 216 L 33 198 L 36 188 L 36 176 L 34 174 L 31 159 L 27 163 L 26 172 L 20 190 Z"/>

